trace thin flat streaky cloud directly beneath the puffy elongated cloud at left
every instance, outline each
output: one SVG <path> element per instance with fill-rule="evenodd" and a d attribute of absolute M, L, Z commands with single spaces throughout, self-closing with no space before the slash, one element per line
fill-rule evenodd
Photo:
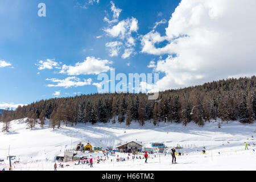
<path fill-rule="evenodd" d="M 77 78 L 75 76 L 67 77 L 64 80 L 60 80 L 60 79 L 57 79 L 57 78 L 47 78 L 46 80 L 57 83 L 56 85 L 48 84 L 47 85 L 48 87 L 64 87 L 66 89 L 71 88 L 71 87 L 90 85 L 91 82 L 92 82 L 91 78 L 88 78 L 87 80 L 83 79 L 81 81 L 80 78 Z"/>

